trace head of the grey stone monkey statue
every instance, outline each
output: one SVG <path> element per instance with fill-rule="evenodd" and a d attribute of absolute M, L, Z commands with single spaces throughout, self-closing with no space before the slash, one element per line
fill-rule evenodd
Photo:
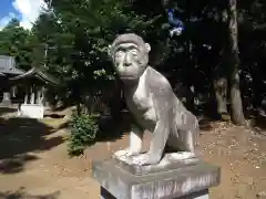
<path fill-rule="evenodd" d="M 110 46 L 110 56 L 123 82 L 139 81 L 149 63 L 151 46 L 134 33 L 119 35 Z"/>

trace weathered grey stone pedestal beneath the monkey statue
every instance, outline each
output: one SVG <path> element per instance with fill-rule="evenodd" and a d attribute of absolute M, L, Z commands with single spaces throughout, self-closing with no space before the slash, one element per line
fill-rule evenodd
<path fill-rule="evenodd" d="M 219 172 L 200 159 L 144 167 L 114 158 L 93 163 L 102 199 L 208 199 L 208 188 L 219 184 Z"/>

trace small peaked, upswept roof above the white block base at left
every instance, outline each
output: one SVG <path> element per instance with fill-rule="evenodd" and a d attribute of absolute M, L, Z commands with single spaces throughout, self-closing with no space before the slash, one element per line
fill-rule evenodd
<path fill-rule="evenodd" d="M 51 75 L 44 74 L 40 69 L 38 67 L 32 67 L 31 70 L 29 70 L 28 72 L 20 74 L 18 76 L 11 77 L 9 80 L 11 81 L 16 81 L 16 80 L 22 80 L 22 78 L 27 78 L 27 77 L 37 77 L 43 82 L 47 82 L 49 84 L 52 85 L 59 85 L 59 82 L 53 78 Z"/>

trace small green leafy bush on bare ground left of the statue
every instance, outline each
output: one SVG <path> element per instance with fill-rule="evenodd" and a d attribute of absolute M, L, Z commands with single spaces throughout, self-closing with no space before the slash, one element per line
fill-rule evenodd
<path fill-rule="evenodd" d="M 99 133 L 98 117 L 95 115 L 72 114 L 71 134 L 68 144 L 68 153 L 71 156 L 83 154 L 85 147 L 95 143 Z"/>

